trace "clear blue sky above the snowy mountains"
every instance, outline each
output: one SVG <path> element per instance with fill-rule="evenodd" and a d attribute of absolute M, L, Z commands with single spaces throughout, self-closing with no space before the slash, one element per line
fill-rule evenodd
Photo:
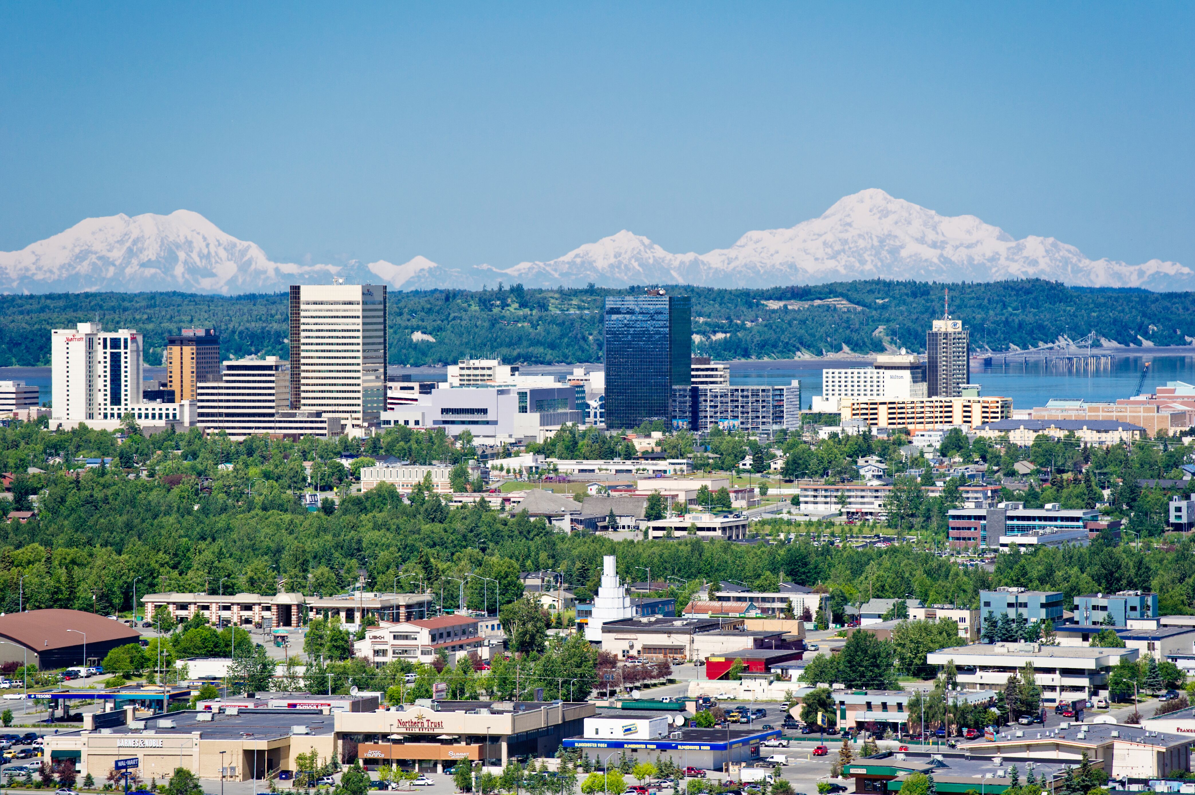
<path fill-rule="evenodd" d="M 1195 5 L 0 6 L 0 249 L 202 212 L 276 260 L 728 246 L 881 187 L 1195 266 Z"/>

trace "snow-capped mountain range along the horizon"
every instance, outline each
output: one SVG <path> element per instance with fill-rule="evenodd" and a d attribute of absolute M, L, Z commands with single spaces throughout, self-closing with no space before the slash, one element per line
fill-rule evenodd
<path fill-rule="evenodd" d="M 404 290 L 522 283 L 624 288 L 694 284 L 760 288 L 860 278 L 994 282 L 1044 278 L 1079 286 L 1195 289 L 1195 271 L 1151 259 L 1091 260 L 1074 246 L 1016 240 L 972 215 L 938 215 L 882 190 L 844 197 L 821 217 L 789 229 L 748 232 L 729 248 L 673 254 L 623 230 L 549 261 L 448 267 L 416 257 L 343 265 L 275 263 L 259 246 L 221 232 L 197 212 L 87 218 L 22 251 L 0 252 L 0 291 L 271 292 L 289 284 L 385 282 Z"/>

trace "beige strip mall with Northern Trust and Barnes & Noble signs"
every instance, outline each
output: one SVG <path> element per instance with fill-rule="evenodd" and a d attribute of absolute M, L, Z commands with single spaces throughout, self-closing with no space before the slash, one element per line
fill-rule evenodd
<path fill-rule="evenodd" d="M 504 766 L 514 756 L 550 757 L 564 738 L 581 735 L 584 719 L 595 713 L 588 702 L 492 701 L 337 711 L 331 702 L 347 697 L 289 695 L 292 709 L 206 704 L 214 708 L 140 721 L 129 720 L 131 710 L 99 713 L 81 732 L 48 735 L 45 748 L 51 760 L 73 759 L 80 775 L 97 778 L 106 777 L 116 759 L 136 757 L 147 781 L 168 777 L 176 768 L 219 778 L 222 766 L 231 781 L 264 779 L 295 770 L 295 757 L 311 751 L 342 763 L 442 771 L 445 763 L 461 759 Z"/>

